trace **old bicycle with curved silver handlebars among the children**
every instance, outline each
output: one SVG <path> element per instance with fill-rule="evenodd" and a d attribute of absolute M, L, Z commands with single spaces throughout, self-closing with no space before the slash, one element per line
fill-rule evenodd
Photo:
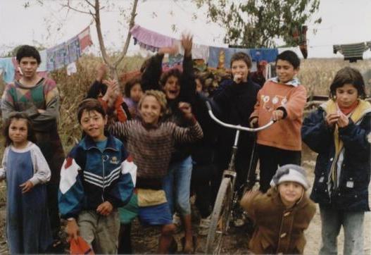
<path fill-rule="evenodd" d="M 215 199 L 215 205 L 213 208 L 213 212 L 211 213 L 210 219 L 210 227 L 208 229 L 208 236 L 206 240 L 206 254 L 220 254 L 222 248 L 222 242 L 224 236 L 227 234 L 227 230 L 229 229 L 229 221 L 232 216 L 234 217 L 234 212 L 238 208 L 238 192 L 239 189 L 249 190 L 253 187 L 250 182 L 250 172 L 252 168 L 252 161 L 253 155 L 251 155 L 251 162 L 249 166 L 249 172 L 247 174 L 247 181 L 245 185 L 239 187 L 236 191 L 234 191 L 235 180 L 237 178 L 237 173 L 234 167 L 234 161 L 237 155 L 237 145 L 239 142 L 239 133 L 240 131 L 247 131 L 247 132 L 258 132 L 260 130 L 264 130 L 265 128 L 269 128 L 273 123 L 274 120 L 270 120 L 269 123 L 259 127 L 259 128 L 246 128 L 242 127 L 241 125 L 232 125 L 228 123 L 224 123 L 218 118 L 216 118 L 213 114 L 213 110 L 210 106 L 209 102 L 206 102 L 208 107 L 208 114 L 210 118 L 215 120 L 216 123 L 222 125 L 225 128 L 232 128 L 236 130 L 236 135 L 234 137 L 234 144 L 232 146 L 232 154 L 231 159 L 229 161 L 228 169 L 223 171 L 222 175 L 222 182 L 220 183 L 220 187 L 218 190 L 217 197 Z M 253 144 L 253 151 L 255 150 L 256 144 Z M 244 190 L 244 191 L 246 191 Z"/>

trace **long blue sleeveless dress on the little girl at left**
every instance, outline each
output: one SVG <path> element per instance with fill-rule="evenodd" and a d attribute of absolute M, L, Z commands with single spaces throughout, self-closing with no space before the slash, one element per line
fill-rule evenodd
<path fill-rule="evenodd" d="M 11 254 L 39 254 L 51 245 L 46 185 L 22 193 L 21 185 L 34 174 L 31 152 L 8 152 L 6 235 Z"/>

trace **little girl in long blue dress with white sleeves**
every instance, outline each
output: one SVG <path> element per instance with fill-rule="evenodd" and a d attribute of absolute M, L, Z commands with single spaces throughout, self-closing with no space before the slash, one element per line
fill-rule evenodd
<path fill-rule="evenodd" d="M 0 180 L 6 179 L 6 237 L 10 254 L 44 253 L 53 242 L 46 206 L 50 169 L 34 144 L 31 121 L 13 113 L 4 125 L 6 149 Z"/>

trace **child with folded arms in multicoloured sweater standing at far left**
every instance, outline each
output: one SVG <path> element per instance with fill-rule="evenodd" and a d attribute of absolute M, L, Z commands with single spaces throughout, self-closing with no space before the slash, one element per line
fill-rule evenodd
<path fill-rule="evenodd" d="M 25 113 L 32 122 L 41 149 L 51 170 L 50 182 L 46 184 L 48 209 L 54 247 L 61 247 L 59 230 L 61 220 L 58 211 L 58 185 L 61 179 L 61 166 L 64 151 L 58 135 L 59 92 L 56 82 L 37 74 L 40 56 L 33 46 L 23 45 L 17 51 L 16 58 L 23 76 L 6 85 L 1 99 L 3 120 L 11 113 Z"/>

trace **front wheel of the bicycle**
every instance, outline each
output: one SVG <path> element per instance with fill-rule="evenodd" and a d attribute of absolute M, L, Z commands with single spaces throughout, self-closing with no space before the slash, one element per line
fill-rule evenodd
<path fill-rule="evenodd" d="M 232 182 L 230 178 L 223 178 L 211 214 L 210 227 L 206 240 L 206 254 L 220 254 L 222 242 L 229 228 L 229 218 L 232 204 Z"/>

